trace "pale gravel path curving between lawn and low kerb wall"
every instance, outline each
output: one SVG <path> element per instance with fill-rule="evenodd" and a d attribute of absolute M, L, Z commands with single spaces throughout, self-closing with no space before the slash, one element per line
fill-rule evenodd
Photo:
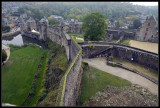
<path fill-rule="evenodd" d="M 126 79 L 130 81 L 133 84 L 138 84 L 144 88 L 147 88 L 150 92 L 152 92 L 155 95 L 158 95 L 158 85 L 151 82 L 150 80 L 135 74 L 133 72 L 130 72 L 128 70 L 119 68 L 119 67 L 112 67 L 106 65 L 106 59 L 105 58 L 92 58 L 92 59 L 83 59 L 84 62 L 87 62 L 89 65 L 100 69 L 102 71 L 108 72 L 110 74 L 113 74 L 115 76 L 119 76 L 123 79 Z"/>

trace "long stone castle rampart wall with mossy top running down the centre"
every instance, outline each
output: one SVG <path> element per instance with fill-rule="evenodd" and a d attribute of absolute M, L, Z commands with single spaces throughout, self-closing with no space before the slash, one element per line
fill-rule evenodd
<path fill-rule="evenodd" d="M 57 97 L 57 106 L 76 106 L 76 100 L 80 96 L 80 84 L 82 79 L 81 48 L 63 30 L 62 26 L 49 26 L 47 37 L 53 42 L 65 47 L 70 66 L 61 80 Z M 64 78 L 66 80 L 64 80 Z M 62 86 L 65 87 L 61 89 Z M 64 92 L 63 92 L 64 91 Z M 62 96 L 63 94 L 63 96 Z M 61 101 L 59 101 L 61 100 Z"/>

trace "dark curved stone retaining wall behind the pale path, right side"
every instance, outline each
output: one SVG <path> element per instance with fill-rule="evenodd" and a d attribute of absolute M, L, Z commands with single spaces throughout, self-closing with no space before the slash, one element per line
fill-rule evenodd
<path fill-rule="evenodd" d="M 94 54 L 94 52 L 100 52 L 101 51 L 100 47 L 102 48 L 106 47 L 107 49 L 109 46 L 113 46 L 111 50 L 103 52 L 99 54 L 97 57 L 107 57 L 107 55 L 111 53 L 114 57 L 126 60 L 131 60 L 131 58 L 133 58 L 133 62 L 143 64 L 157 71 L 159 69 L 158 54 L 153 52 L 145 51 L 142 49 L 126 45 L 107 43 L 107 42 L 90 42 L 90 43 L 83 42 L 79 44 L 82 46 L 83 49 L 83 57 L 89 57 L 91 56 L 91 54 Z M 92 49 L 89 48 L 89 46 L 91 45 L 94 46 L 94 48 Z"/>

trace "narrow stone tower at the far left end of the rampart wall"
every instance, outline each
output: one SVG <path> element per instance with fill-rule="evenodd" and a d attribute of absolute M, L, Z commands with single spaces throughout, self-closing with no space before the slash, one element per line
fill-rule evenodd
<path fill-rule="evenodd" d="M 44 40 L 46 41 L 46 37 L 47 37 L 47 27 L 48 27 L 48 20 L 46 19 L 46 17 L 42 18 L 40 20 L 40 37 L 39 40 Z"/>

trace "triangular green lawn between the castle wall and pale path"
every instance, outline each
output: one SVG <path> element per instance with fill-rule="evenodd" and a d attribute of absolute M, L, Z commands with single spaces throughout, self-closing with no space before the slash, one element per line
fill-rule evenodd
<path fill-rule="evenodd" d="M 131 83 L 90 66 L 90 69 L 83 73 L 80 102 L 85 104 L 96 92 L 103 90 L 107 85 L 128 86 Z"/>

